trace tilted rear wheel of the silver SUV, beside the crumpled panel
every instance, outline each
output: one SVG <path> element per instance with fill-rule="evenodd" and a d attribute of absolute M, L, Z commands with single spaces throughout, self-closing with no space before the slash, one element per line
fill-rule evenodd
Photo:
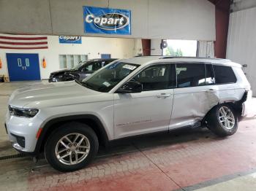
<path fill-rule="evenodd" d="M 219 104 L 211 110 L 207 124 L 217 136 L 231 136 L 238 129 L 238 117 L 230 104 Z"/>

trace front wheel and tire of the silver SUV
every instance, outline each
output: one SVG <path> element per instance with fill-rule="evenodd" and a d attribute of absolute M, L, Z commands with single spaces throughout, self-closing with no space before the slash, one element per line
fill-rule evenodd
<path fill-rule="evenodd" d="M 50 134 L 45 158 L 58 171 L 76 171 L 91 162 L 98 148 L 97 135 L 89 125 L 70 122 Z"/>

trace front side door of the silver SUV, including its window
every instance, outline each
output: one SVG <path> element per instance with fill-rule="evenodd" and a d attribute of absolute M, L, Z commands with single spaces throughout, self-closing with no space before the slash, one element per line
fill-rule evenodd
<path fill-rule="evenodd" d="M 143 85 L 141 93 L 115 93 L 117 139 L 168 130 L 175 83 L 171 68 L 172 65 L 166 63 L 149 66 L 131 79 Z"/>

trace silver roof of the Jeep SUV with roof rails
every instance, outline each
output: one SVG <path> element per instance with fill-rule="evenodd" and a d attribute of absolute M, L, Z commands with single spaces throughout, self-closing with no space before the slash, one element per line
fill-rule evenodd
<path fill-rule="evenodd" d="M 171 56 L 138 56 L 134 58 L 124 59 L 124 62 L 135 63 L 143 65 L 146 63 L 157 63 L 157 62 L 197 62 L 197 63 L 213 63 L 217 65 L 226 65 L 226 66 L 238 66 L 241 67 L 238 63 L 233 63 L 227 59 L 221 58 L 197 58 L 197 57 L 171 57 Z"/>

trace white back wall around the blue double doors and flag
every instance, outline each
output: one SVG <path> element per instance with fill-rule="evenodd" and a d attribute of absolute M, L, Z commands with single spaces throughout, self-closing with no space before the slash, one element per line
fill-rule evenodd
<path fill-rule="evenodd" d="M 40 74 L 48 79 L 50 72 L 59 70 L 59 55 L 88 55 L 89 59 L 100 58 L 101 54 L 111 54 L 111 58 L 129 58 L 142 53 L 140 39 L 117 39 L 82 37 L 82 44 L 59 44 L 59 36 L 48 36 L 46 50 L 4 50 L 0 49 L 2 68 L 0 75 L 8 76 L 6 53 L 38 53 Z M 47 66 L 42 68 L 42 59 Z"/>

